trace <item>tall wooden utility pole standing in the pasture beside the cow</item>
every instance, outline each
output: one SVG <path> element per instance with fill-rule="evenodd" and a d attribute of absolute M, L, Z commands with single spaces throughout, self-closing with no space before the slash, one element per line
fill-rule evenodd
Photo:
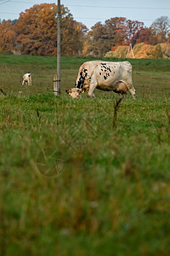
<path fill-rule="evenodd" d="M 61 9 L 60 0 L 58 0 L 58 16 L 57 16 L 57 76 L 54 76 L 54 95 L 60 95 L 60 20 Z"/>

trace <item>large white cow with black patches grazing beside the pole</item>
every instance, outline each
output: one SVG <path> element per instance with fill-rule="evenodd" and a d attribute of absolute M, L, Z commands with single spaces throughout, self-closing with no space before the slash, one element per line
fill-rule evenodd
<path fill-rule="evenodd" d="M 133 98 L 135 98 L 132 66 L 128 61 L 84 62 L 79 68 L 75 87 L 66 90 L 72 97 L 79 97 L 83 88 L 88 90 L 88 96 L 95 96 L 94 90 L 97 88 L 99 90 L 113 90 L 122 95 L 126 95 L 127 91 L 129 91 Z"/>

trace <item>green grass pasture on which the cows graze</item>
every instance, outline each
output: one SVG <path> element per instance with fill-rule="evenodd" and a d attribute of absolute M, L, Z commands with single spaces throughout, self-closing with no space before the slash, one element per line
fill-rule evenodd
<path fill-rule="evenodd" d="M 88 60 L 61 58 L 59 97 L 55 58 L 0 55 L 3 256 L 170 255 L 170 61 L 129 60 L 113 128 L 119 96 L 65 94 Z"/>

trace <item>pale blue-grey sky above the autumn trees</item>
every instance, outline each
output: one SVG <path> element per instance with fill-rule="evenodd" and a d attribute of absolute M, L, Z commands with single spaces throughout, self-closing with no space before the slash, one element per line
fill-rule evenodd
<path fill-rule="evenodd" d="M 0 19 L 18 19 L 20 12 L 30 9 L 34 4 L 57 3 L 43 0 L 0 0 Z M 145 26 L 161 16 L 170 19 L 170 0 L 60 0 L 70 9 L 75 20 L 90 28 L 98 21 L 104 23 L 112 17 L 126 17 L 143 21 Z"/>

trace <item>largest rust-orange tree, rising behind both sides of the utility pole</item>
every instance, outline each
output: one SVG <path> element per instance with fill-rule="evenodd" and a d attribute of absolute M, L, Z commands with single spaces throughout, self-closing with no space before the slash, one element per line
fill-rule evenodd
<path fill-rule="evenodd" d="M 57 6 L 42 3 L 26 9 L 15 24 L 22 54 L 54 55 L 57 41 Z M 86 26 L 73 20 L 69 9 L 61 5 L 61 55 L 82 51 L 82 34 Z"/>

